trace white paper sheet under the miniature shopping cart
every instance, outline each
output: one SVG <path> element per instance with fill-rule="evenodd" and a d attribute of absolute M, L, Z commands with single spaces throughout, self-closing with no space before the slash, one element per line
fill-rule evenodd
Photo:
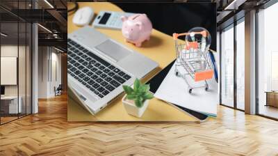
<path fill-rule="evenodd" d="M 154 94 L 154 97 L 202 114 L 216 116 L 219 97 L 218 83 L 215 79 L 207 81 L 208 91 L 205 91 L 205 88 L 193 88 L 192 93 L 189 93 L 186 81 L 175 75 L 174 68 L 175 63 Z M 180 72 L 184 71 L 186 73 L 182 67 L 178 69 Z M 204 86 L 205 84 L 204 81 L 195 82 L 191 77 L 188 76 L 187 78 L 191 86 Z"/>

